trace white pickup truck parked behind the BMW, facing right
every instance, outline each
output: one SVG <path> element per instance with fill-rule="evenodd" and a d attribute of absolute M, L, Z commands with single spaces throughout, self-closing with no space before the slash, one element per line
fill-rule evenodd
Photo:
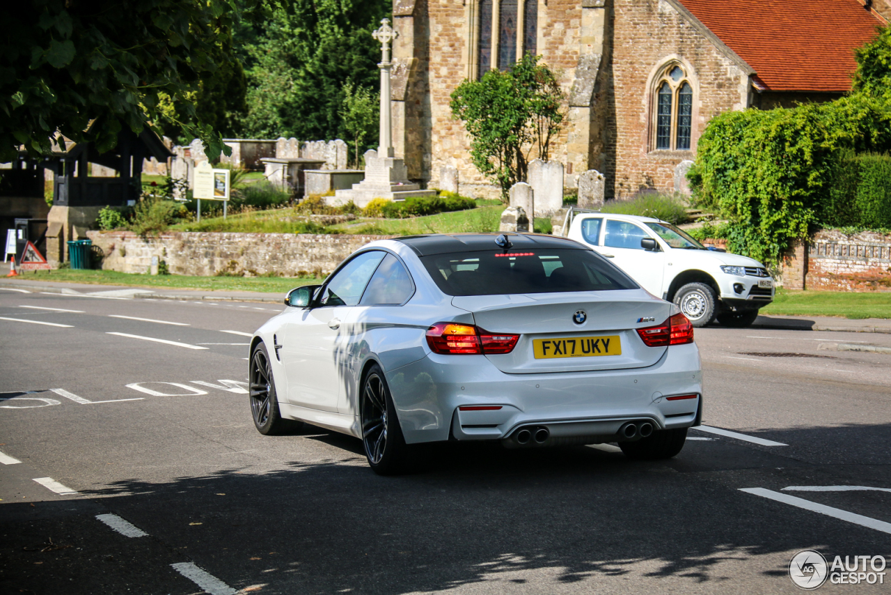
<path fill-rule="evenodd" d="M 773 279 L 757 260 L 699 244 L 670 223 L 569 211 L 570 239 L 611 259 L 648 292 L 674 302 L 693 326 L 749 326 L 773 301 Z"/>

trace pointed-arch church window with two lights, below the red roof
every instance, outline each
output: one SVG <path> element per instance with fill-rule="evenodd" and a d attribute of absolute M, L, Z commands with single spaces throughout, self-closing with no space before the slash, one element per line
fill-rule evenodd
<path fill-rule="evenodd" d="M 689 151 L 693 128 L 693 87 L 687 72 L 671 62 L 656 77 L 652 109 L 652 146 L 661 151 Z"/>

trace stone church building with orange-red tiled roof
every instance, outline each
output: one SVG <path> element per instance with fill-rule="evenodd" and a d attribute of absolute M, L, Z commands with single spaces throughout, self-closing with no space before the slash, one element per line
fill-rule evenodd
<path fill-rule="evenodd" d="M 437 187 L 453 166 L 462 194 L 486 194 L 449 95 L 531 52 L 567 94 L 552 152 L 566 186 L 597 169 L 608 197 L 627 198 L 680 189 L 718 113 L 848 91 L 853 50 L 891 0 L 394 0 L 393 17 L 394 145 L 410 178 Z"/>

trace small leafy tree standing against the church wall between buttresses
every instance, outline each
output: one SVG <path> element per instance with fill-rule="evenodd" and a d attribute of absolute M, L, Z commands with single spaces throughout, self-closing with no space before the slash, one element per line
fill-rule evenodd
<path fill-rule="evenodd" d="M 464 80 L 452 93 L 452 115 L 470 134 L 470 160 L 481 174 L 508 191 L 527 178 L 532 151 L 544 161 L 564 118 L 564 95 L 553 72 L 532 54 L 510 70 L 489 70 Z"/>

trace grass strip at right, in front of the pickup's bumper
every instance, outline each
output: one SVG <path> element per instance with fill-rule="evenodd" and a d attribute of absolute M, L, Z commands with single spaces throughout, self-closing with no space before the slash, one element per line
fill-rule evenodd
<path fill-rule="evenodd" d="M 851 293 L 789 291 L 778 289 L 762 314 L 786 316 L 836 316 L 841 318 L 891 318 L 891 292 Z"/>

